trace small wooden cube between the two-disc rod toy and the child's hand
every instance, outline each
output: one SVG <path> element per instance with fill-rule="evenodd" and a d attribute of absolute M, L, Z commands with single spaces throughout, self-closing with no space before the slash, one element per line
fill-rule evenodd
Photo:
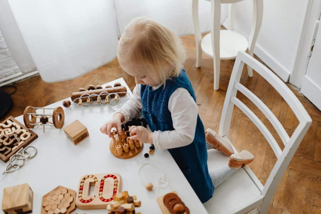
<path fill-rule="evenodd" d="M 79 120 L 75 120 L 71 124 L 64 128 L 67 138 L 75 145 L 89 136 L 86 126 L 84 126 Z"/>

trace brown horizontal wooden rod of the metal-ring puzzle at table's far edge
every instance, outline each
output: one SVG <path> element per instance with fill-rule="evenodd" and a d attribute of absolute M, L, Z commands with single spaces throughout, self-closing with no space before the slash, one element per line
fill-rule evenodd
<path fill-rule="evenodd" d="M 125 86 L 117 86 L 117 87 L 111 87 L 111 88 L 105 88 L 105 89 L 96 89 L 96 90 L 88 90 L 88 91 L 78 91 L 78 92 L 73 92 L 70 96 L 71 100 L 74 102 L 78 102 L 79 98 L 83 94 L 100 94 L 101 92 L 107 92 L 107 93 L 118 93 L 118 92 L 127 92 L 127 89 Z M 119 93 L 119 96 L 125 96 L 126 93 Z M 100 98 L 105 99 L 108 94 L 102 94 L 100 95 Z M 92 96 L 91 97 L 93 100 L 97 100 L 97 96 Z M 87 96 L 81 98 L 82 101 L 87 101 Z"/>

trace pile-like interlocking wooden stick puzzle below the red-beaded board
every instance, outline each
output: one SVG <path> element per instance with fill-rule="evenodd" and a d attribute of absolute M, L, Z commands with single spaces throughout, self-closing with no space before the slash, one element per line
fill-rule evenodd
<path fill-rule="evenodd" d="M 114 202 L 107 205 L 108 214 L 140 214 L 135 212 L 135 207 L 140 207 L 141 201 L 137 201 L 137 197 L 129 196 L 127 191 L 117 193 Z"/>

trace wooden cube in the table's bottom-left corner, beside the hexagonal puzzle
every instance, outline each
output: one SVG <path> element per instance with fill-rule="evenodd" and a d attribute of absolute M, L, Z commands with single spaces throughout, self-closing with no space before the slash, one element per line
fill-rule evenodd
<path fill-rule="evenodd" d="M 3 189 L 2 207 L 5 214 L 31 213 L 33 192 L 29 184 L 20 184 Z"/>

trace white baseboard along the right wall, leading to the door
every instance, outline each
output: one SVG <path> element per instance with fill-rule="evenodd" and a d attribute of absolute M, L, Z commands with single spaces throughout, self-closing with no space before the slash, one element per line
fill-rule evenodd
<path fill-rule="evenodd" d="M 228 19 L 226 19 L 222 25 L 228 28 Z M 237 26 L 234 26 L 234 30 L 243 34 L 247 39 L 249 35 L 245 34 Z M 283 81 L 289 81 L 291 71 L 285 68 L 277 59 L 271 56 L 264 47 L 260 46 L 258 43 L 255 44 L 254 54 L 259 57 L 274 73 L 276 73 Z"/>

